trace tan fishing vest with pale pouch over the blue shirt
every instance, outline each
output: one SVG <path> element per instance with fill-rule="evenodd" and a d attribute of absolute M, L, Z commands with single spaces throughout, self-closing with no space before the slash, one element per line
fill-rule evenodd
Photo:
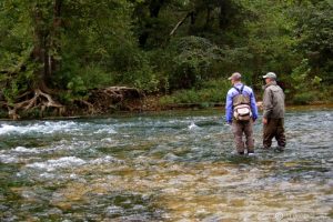
<path fill-rule="evenodd" d="M 243 94 L 244 87 L 244 84 L 241 89 L 233 87 L 239 92 L 232 98 L 233 117 L 239 121 L 249 121 L 252 117 L 250 97 Z"/>

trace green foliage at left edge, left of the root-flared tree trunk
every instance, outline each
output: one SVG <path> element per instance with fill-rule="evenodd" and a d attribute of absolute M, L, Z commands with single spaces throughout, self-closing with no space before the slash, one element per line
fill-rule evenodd
<path fill-rule="evenodd" d="M 33 49 L 31 21 L 23 2 L 0 3 L 0 85 L 11 104 L 32 84 L 37 64 L 30 59 Z"/>

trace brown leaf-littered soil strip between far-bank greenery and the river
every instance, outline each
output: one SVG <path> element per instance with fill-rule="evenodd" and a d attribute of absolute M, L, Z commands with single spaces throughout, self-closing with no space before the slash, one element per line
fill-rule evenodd
<path fill-rule="evenodd" d="M 51 112 L 46 111 L 41 113 L 40 110 L 30 110 L 20 112 L 18 119 L 8 118 L 4 110 L 0 115 L 0 121 L 17 121 L 17 120 L 70 120 L 70 119 L 82 119 L 82 118 L 103 118 L 110 115 L 119 114 L 154 114 L 163 112 L 188 112 L 188 111 L 209 111 L 209 110 L 220 110 L 221 117 L 224 113 L 224 102 L 204 102 L 204 103 L 165 103 L 164 97 L 170 95 L 149 95 L 149 97 L 137 97 L 131 99 L 124 99 L 118 104 L 113 104 L 108 109 L 99 110 L 92 112 L 92 107 L 85 105 L 85 109 L 72 107 L 68 110 L 67 113 L 58 113 L 52 110 Z M 161 102 L 162 101 L 162 102 Z M 258 101 L 259 103 L 260 101 Z M 101 102 L 97 102 L 99 105 Z M 81 102 L 82 104 L 82 102 Z M 105 102 L 110 104 L 110 102 Z M 260 107 L 259 107 L 260 108 Z M 286 102 L 286 110 L 323 110 L 323 109 L 333 109 L 333 102 L 330 101 L 313 101 L 306 104 L 295 104 Z"/>

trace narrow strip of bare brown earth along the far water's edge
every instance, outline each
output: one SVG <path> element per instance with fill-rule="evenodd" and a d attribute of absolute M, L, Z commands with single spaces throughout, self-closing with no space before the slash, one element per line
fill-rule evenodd
<path fill-rule="evenodd" d="M 161 97 L 144 97 L 135 100 L 125 100 L 123 104 L 111 107 L 109 110 L 99 113 L 89 113 L 87 110 L 79 110 L 75 108 L 69 108 L 71 110 L 67 115 L 57 115 L 56 113 L 44 113 L 44 117 L 40 117 L 38 111 L 27 111 L 22 113 L 20 120 L 73 120 L 73 119 L 87 119 L 87 118 L 103 118 L 110 115 L 129 115 L 129 114 L 163 114 L 169 112 L 179 113 L 182 111 L 195 111 L 195 112 L 211 112 L 216 110 L 224 113 L 224 103 L 170 103 L 163 104 L 160 102 Z M 299 105 L 286 104 L 289 111 L 311 111 L 311 110 L 326 110 L 333 109 L 332 102 L 316 101 L 312 104 Z M 0 112 L 0 121 L 16 121 L 6 117 L 4 111 Z M 30 114 L 30 115 L 29 115 Z"/>

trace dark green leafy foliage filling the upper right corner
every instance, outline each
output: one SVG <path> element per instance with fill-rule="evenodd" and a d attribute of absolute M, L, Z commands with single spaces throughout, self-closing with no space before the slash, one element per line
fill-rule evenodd
<path fill-rule="evenodd" d="M 325 84 L 333 82 L 333 6 L 329 0 L 303 2 L 294 10 L 297 21 L 297 50 L 320 72 Z"/>

